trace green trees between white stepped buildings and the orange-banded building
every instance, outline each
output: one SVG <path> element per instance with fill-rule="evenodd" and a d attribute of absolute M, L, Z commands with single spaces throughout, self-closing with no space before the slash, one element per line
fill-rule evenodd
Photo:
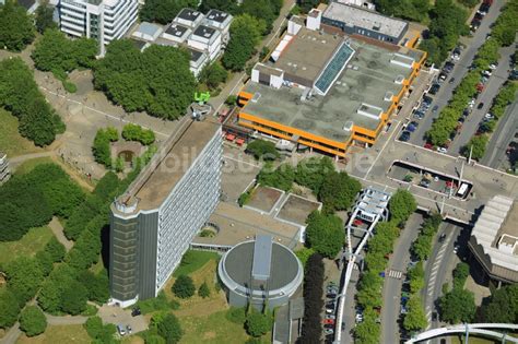
<path fill-rule="evenodd" d="M 223 55 L 223 67 L 233 71 L 242 71 L 246 62 L 256 51 L 261 34 L 266 32 L 266 23 L 249 14 L 234 17 L 231 25 L 231 39 Z"/>

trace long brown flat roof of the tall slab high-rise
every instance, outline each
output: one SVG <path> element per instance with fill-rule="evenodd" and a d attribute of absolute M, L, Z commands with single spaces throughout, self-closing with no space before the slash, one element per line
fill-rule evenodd
<path fill-rule="evenodd" d="M 173 133 L 157 153 L 157 161 L 152 161 L 128 188 L 121 198 L 139 200 L 136 212 L 154 210 L 162 205 L 175 185 L 184 177 L 193 161 L 207 143 L 220 129 L 220 124 L 211 119 L 189 121 L 187 129 L 180 122 L 178 131 Z M 163 150 L 163 151 L 162 151 Z M 193 152 L 186 156 L 186 152 Z"/>

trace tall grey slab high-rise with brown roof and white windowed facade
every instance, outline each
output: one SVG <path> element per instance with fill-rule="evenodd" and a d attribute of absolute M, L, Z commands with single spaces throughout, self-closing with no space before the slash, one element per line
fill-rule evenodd
<path fill-rule="evenodd" d="M 157 295 L 220 198 L 222 133 L 184 119 L 111 204 L 109 283 L 121 307 Z"/>

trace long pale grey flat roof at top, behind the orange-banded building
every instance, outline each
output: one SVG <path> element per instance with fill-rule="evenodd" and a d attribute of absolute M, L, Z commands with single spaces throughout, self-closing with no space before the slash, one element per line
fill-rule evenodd
<path fill-rule="evenodd" d="M 404 21 L 340 2 L 331 2 L 323 11 L 322 16 L 392 37 L 399 37 L 408 26 Z"/>

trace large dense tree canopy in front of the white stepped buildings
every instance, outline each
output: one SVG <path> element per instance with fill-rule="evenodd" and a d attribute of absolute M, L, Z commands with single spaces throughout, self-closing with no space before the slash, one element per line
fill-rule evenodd
<path fill-rule="evenodd" d="M 183 48 L 152 45 L 140 52 L 129 39 L 115 40 L 95 64 L 94 85 L 126 111 L 177 119 L 197 87 L 189 60 Z"/>

